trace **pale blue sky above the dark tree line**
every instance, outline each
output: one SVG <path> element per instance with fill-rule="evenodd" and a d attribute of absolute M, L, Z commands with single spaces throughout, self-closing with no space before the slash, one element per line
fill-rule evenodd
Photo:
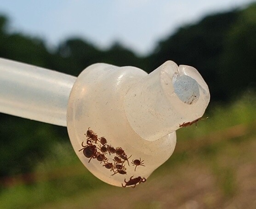
<path fill-rule="evenodd" d="M 114 41 L 137 53 L 149 53 L 157 42 L 186 23 L 253 0 L 0 0 L 0 14 L 11 30 L 40 36 L 55 46 L 79 36 L 105 48 Z"/>

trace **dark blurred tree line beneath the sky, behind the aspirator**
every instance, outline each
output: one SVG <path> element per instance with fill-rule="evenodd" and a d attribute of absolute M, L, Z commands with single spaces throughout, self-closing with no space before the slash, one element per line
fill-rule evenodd
<path fill-rule="evenodd" d="M 100 50 L 80 37 L 50 51 L 40 38 L 11 33 L 8 18 L 0 16 L 0 57 L 74 76 L 96 62 L 131 65 L 150 73 L 173 60 L 197 68 L 209 85 L 211 102 L 228 102 L 245 90 L 255 90 L 255 54 L 256 3 L 183 26 L 143 57 L 119 43 Z M 35 160 L 49 154 L 52 142 L 63 139 L 67 141 L 64 127 L 0 114 L 0 176 L 30 171 Z"/>

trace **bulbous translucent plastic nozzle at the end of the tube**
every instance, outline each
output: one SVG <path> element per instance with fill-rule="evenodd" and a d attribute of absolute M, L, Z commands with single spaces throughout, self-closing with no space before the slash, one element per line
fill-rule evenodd
<path fill-rule="evenodd" d="M 94 175 L 121 186 L 124 175 L 113 175 L 97 160 L 85 157 L 85 141 L 99 149 L 102 146 L 84 136 L 87 130 L 104 137 L 106 147 L 121 147 L 131 156 L 130 164 L 143 160 L 145 166 L 137 170 L 125 161 L 125 177 L 147 178 L 173 153 L 175 130 L 201 117 L 209 100 L 205 81 L 192 67 L 168 61 L 147 74 L 139 68 L 98 63 L 86 68 L 71 90 L 68 134 L 78 157 Z M 119 155 L 107 152 L 106 156 L 106 162 L 114 165 Z"/>

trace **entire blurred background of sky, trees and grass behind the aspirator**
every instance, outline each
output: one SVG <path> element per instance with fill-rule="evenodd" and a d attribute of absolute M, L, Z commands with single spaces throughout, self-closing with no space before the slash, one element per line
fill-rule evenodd
<path fill-rule="evenodd" d="M 256 2 L 0 1 L 0 57 L 74 76 L 173 60 L 211 94 L 208 119 L 178 130 L 171 158 L 135 189 L 91 175 L 65 127 L 0 113 L 1 209 L 256 208 Z"/>

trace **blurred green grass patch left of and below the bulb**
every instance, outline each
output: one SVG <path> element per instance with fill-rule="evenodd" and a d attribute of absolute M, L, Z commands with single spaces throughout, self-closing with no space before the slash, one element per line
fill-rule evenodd
<path fill-rule="evenodd" d="M 69 142 L 53 146 L 51 154 L 38 162 L 34 172 L 36 183 L 18 184 L 0 192 L 1 209 L 38 208 L 43 203 L 104 186 L 80 163 Z"/>

